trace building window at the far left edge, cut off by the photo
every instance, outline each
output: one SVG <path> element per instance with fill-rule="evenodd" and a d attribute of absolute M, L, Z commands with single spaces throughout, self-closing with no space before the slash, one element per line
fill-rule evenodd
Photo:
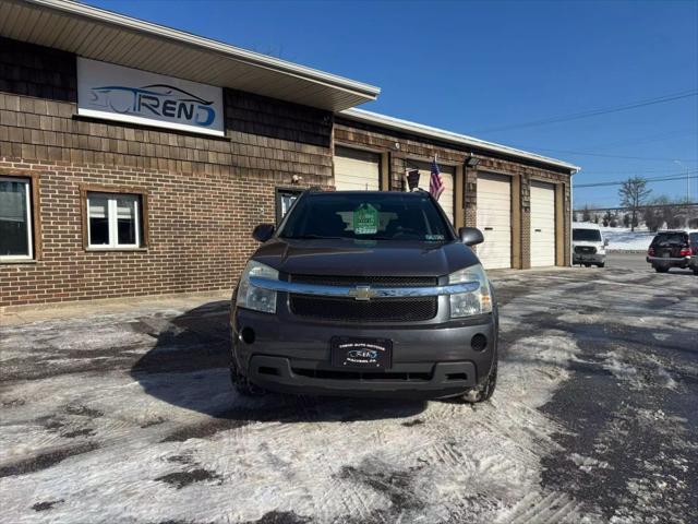
<path fill-rule="evenodd" d="M 0 178 L 0 261 L 32 260 L 32 179 Z"/>

